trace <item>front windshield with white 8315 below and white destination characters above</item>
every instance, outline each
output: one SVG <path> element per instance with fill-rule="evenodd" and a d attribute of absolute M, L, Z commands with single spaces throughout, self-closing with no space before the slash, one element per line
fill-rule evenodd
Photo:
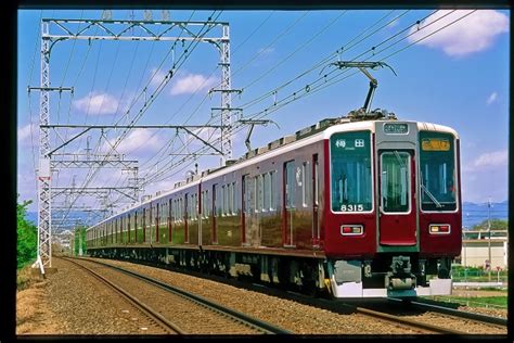
<path fill-rule="evenodd" d="M 370 131 L 331 137 L 331 202 L 333 212 L 372 209 Z"/>

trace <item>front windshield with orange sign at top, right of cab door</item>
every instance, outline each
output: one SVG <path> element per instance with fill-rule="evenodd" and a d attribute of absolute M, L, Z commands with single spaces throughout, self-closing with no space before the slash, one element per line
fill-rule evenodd
<path fill-rule="evenodd" d="M 454 138 L 450 134 L 420 131 L 421 208 L 457 209 Z"/>

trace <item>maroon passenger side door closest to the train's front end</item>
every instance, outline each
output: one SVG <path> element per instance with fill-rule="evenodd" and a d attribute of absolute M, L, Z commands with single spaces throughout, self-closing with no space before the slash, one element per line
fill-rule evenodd
<path fill-rule="evenodd" d="M 285 246 L 294 246 L 294 213 L 295 213 L 295 162 L 290 161 L 284 163 L 283 177 L 283 243 Z"/>

